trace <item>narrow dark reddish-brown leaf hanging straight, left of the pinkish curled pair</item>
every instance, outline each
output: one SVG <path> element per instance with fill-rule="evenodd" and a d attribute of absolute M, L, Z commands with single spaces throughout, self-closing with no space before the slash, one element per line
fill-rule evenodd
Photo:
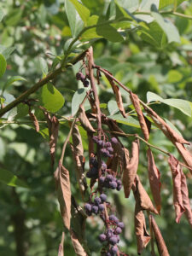
<path fill-rule="evenodd" d="M 157 211 L 160 213 L 160 172 L 154 163 L 154 155 L 150 148 L 148 148 L 148 179 L 150 183 L 150 189 L 154 198 L 154 204 Z"/>

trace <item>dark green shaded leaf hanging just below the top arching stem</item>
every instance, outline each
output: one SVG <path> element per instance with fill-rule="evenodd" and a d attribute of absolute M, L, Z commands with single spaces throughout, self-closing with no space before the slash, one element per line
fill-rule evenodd
<path fill-rule="evenodd" d="M 96 26 L 96 32 L 99 36 L 102 36 L 113 43 L 124 41 L 124 38 L 119 34 L 119 32 L 110 25 L 98 25 Z"/>

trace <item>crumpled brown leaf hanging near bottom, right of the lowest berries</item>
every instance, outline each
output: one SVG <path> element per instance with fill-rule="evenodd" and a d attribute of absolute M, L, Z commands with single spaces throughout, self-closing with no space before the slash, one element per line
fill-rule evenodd
<path fill-rule="evenodd" d="M 143 252 L 143 248 L 148 245 L 150 236 L 146 230 L 145 216 L 138 201 L 136 201 L 135 206 L 135 232 L 137 237 L 137 253 L 141 254 Z"/>

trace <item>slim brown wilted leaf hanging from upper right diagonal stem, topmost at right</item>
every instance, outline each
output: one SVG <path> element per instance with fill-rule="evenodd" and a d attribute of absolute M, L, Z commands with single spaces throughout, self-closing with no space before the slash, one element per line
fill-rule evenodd
<path fill-rule="evenodd" d="M 146 121 L 144 119 L 138 96 L 131 92 L 130 98 L 131 98 L 131 102 L 133 103 L 134 108 L 136 109 L 137 117 L 138 117 L 141 129 L 143 131 L 144 138 L 146 139 L 146 141 L 148 141 L 148 137 L 149 137 L 148 125 L 146 124 Z"/>

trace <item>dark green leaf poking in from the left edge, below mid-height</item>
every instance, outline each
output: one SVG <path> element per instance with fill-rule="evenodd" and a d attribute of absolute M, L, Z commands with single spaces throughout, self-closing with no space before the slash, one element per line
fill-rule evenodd
<path fill-rule="evenodd" d="M 0 182 L 5 183 L 11 187 L 28 188 L 27 184 L 19 177 L 16 177 L 12 172 L 0 168 Z"/>

